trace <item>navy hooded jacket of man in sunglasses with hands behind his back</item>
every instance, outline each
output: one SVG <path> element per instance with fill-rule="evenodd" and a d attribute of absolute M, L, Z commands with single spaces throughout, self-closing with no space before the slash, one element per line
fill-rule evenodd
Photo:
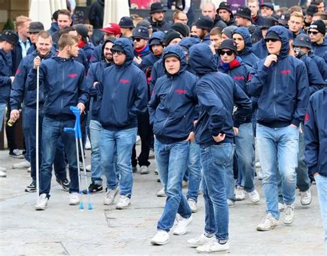
<path fill-rule="evenodd" d="M 103 128 L 112 131 L 137 127 L 137 115 L 146 112 L 148 103 L 146 77 L 132 63 L 132 43 L 129 39 L 120 38 L 115 45 L 126 52 L 126 61 L 121 66 L 105 68 L 98 85 L 99 120 Z"/>

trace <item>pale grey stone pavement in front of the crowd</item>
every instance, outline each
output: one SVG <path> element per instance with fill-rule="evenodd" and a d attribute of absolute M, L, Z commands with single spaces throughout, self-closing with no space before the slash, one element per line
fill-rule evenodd
<path fill-rule="evenodd" d="M 139 146 L 138 148 L 139 149 Z M 87 151 L 87 163 L 90 151 Z M 156 197 L 161 188 L 151 160 L 149 175 L 134 174 L 132 205 L 128 210 L 104 206 L 104 193 L 92 195 L 93 210 L 79 210 L 68 205 L 68 193 L 53 179 L 47 210 L 35 211 L 35 193 L 25 193 L 30 184 L 27 171 L 12 169 L 19 159 L 0 152 L 0 165 L 8 168 L 0 178 L 0 255 L 195 255 L 187 239 L 196 237 L 204 228 L 204 200 L 199 195 L 199 211 L 186 235 L 170 235 L 170 243 L 152 246 L 165 198 Z M 90 174 L 90 173 L 89 173 Z M 228 255 L 324 255 L 323 228 L 315 185 L 313 202 L 304 207 L 295 204 L 292 226 L 280 222 L 268 232 L 255 230 L 265 215 L 261 181 L 259 204 L 248 197 L 230 208 L 230 253 Z M 185 191 L 186 192 L 186 191 Z M 84 197 L 86 200 L 86 197 Z"/>

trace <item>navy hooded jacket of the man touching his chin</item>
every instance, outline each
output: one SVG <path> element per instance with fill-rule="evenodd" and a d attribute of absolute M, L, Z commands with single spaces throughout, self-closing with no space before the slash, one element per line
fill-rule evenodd
<path fill-rule="evenodd" d="M 264 126 L 281 128 L 294 124 L 299 126 L 306 113 L 309 100 L 309 82 L 306 66 L 299 59 L 288 55 L 288 32 L 281 26 L 273 26 L 281 38 L 281 51 L 277 63 L 264 66 L 266 59 L 252 66 L 249 95 L 259 96 L 257 121 Z M 267 33 L 268 33 L 267 32 Z"/>

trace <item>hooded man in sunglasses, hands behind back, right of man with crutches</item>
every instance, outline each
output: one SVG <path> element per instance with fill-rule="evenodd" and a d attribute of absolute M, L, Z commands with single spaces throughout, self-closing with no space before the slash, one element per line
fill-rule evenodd
<path fill-rule="evenodd" d="M 146 77 L 132 63 L 134 50 L 129 39 L 120 38 L 111 48 L 115 65 L 106 68 L 99 81 L 99 121 L 101 167 L 106 172 L 107 195 L 104 204 L 115 201 L 120 187 L 117 209 L 130 206 L 132 196 L 132 146 L 137 136 L 137 115 L 146 112 L 148 103 Z M 117 167 L 114 165 L 117 151 Z"/>

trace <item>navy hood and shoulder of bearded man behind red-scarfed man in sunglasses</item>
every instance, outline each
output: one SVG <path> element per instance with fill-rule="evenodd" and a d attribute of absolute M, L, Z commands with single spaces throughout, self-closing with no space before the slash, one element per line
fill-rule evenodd
<path fill-rule="evenodd" d="M 259 61 L 259 58 L 255 56 L 255 54 L 252 52 L 252 41 L 251 41 L 251 35 L 250 32 L 248 32 L 248 29 L 245 27 L 239 27 L 235 28 L 233 30 L 232 35 L 239 34 L 244 39 L 244 49 L 239 52 L 239 57 L 243 60 L 246 65 L 252 67 L 253 64 L 257 61 Z"/>

